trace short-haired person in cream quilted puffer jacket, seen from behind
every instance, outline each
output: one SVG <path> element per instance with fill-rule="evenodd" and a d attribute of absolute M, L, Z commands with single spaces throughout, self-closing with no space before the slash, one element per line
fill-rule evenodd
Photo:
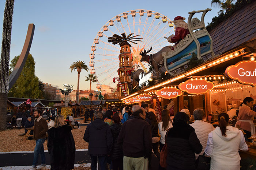
<path fill-rule="evenodd" d="M 190 124 L 195 129 L 197 138 L 199 139 L 201 145 L 203 146 L 202 152 L 200 154 L 196 154 L 196 159 L 199 155 L 203 155 L 204 149 L 207 144 L 208 134 L 213 131 L 215 128 L 211 123 L 203 122 L 204 118 L 204 110 L 201 108 L 196 108 L 193 111 L 193 117 L 195 122 Z"/>

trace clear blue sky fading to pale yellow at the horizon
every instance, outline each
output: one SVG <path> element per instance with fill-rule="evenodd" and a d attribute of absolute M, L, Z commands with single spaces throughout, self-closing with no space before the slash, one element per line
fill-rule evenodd
<path fill-rule="evenodd" d="M 1 33 L 4 7 L 5 0 L 1 0 Z M 102 26 L 113 17 L 130 10 L 145 9 L 159 12 L 170 20 L 180 15 L 187 22 L 189 11 L 206 8 L 212 9 L 205 16 L 207 25 L 219 11 L 219 8 L 211 7 L 211 0 L 15 0 L 10 61 L 21 53 L 28 24 L 34 23 L 30 54 L 36 63 L 35 75 L 45 83 L 60 88 L 63 84 L 72 84 L 76 89 L 77 71 L 71 73 L 70 65 L 82 60 L 89 67 L 93 40 Z M 200 19 L 200 16 L 197 17 Z M 81 72 L 80 90 L 89 89 L 89 82 L 84 81 L 89 73 L 84 70 Z M 111 86 L 114 87 L 114 84 Z M 95 84 L 92 89 L 96 90 Z"/>

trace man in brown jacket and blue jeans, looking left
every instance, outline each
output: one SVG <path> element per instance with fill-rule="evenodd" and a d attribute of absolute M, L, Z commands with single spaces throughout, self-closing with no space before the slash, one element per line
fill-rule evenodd
<path fill-rule="evenodd" d="M 34 111 L 35 125 L 34 125 L 34 139 L 35 139 L 35 150 L 32 169 L 36 170 L 38 156 L 41 157 L 41 166 L 37 169 L 46 169 L 45 165 L 45 153 L 44 153 L 44 142 L 46 138 L 46 132 L 48 131 L 48 126 L 46 120 L 41 116 L 42 111 L 36 109 Z"/>

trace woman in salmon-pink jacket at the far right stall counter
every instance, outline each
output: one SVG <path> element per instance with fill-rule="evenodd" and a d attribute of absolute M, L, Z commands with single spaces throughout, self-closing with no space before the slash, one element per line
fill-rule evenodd
<path fill-rule="evenodd" d="M 242 107 L 239 109 L 236 126 L 239 125 L 241 129 L 244 129 L 246 137 L 249 138 L 255 134 L 255 125 L 253 118 L 256 117 L 256 112 L 252 111 L 254 100 L 251 97 L 246 97 L 243 100 Z"/>

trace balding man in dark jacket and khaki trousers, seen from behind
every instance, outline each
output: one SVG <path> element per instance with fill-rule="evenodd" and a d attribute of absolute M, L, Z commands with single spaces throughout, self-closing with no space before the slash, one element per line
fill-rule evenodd
<path fill-rule="evenodd" d="M 133 116 L 123 124 L 117 142 L 123 147 L 124 167 L 147 169 L 152 150 L 151 126 L 145 120 L 144 108 L 137 107 Z"/>

